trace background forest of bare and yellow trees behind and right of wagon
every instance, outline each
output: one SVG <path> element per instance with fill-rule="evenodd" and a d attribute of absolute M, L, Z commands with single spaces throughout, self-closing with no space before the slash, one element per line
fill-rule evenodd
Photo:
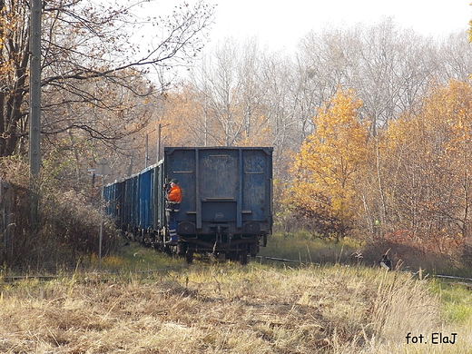
<path fill-rule="evenodd" d="M 468 262 L 471 57 L 467 33 L 433 39 L 392 19 L 307 34 L 290 55 L 228 39 L 154 124 L 166 145 L 273 146 L 278 231 Z"/>

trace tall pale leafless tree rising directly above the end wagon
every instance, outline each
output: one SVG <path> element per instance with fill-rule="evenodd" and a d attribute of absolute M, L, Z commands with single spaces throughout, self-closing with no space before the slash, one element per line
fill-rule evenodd
<path fill-rule="evenodd" d="M 255 50 L 254 46 L 241 50 L 239 44 L 227 39 L 192 70 L 192 88 L 202 103 L 202 133 L 215 144 L 231 146 L 242 134 L 251 133 L 251 116 L 259 100 L 254 92 Z M 244 61 L 245 57 L 249 59 Z"/>

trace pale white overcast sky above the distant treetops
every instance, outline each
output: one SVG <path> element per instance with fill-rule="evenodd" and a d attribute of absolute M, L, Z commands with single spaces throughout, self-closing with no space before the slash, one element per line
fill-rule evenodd
<path fill-rule="evenodd" d="M 217 5 L 212 42 L 229 35 L 239 39 L 257 36 L 272 50 L 292 50 L 304 34 L 326 25 L 374 24 L 393 16 L 401 27 L 437 35 L 467 29 L 472 19 L 471 0 L 207 1 Z"/>

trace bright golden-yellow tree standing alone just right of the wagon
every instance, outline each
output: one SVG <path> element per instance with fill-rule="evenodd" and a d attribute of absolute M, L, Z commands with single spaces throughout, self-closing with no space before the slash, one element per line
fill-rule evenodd
<path fill-rule="evenodd" d="M 359 118 L 362 103 L 341 90 L 313 118 L 315 131 L 300 148 L 294 166 L 291 199 L 312 218 L 314 231 L 337 240 L 357 214 L 356 181 L 367 155 L 368 125 Z"/>

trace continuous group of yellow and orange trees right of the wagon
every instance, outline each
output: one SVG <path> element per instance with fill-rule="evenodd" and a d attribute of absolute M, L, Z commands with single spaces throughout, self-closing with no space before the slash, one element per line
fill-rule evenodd
<path fill-rule="evenodd" d="M 313 118 L 287 202 L 314 234 L 361 237 L 453 257 L 470 240 L 472 87 L 432 89 L 416 111 L 369 133 L 352 91 Z"/>

